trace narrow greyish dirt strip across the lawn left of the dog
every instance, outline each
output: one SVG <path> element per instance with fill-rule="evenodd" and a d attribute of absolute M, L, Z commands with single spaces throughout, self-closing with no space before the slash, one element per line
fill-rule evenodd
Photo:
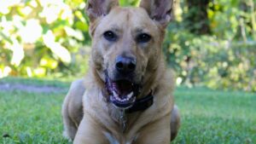
<path fill-rule="evenodd" d="M 38 86 L 38 85 L 27 85 L 27 84 L 0 84 L 0 91 L 26 91 L 31 93 L 60 93 L 65 92 L 67 89 L 58 88 L 54 86 Z"/>

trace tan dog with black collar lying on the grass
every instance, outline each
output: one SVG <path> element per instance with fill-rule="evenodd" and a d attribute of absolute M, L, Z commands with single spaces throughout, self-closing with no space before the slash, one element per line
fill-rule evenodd
<path fill-rule="evenodd" d="M 161 45 L 172 0 L 88 0 L 90 72 L 73 82 L 62 107 L 65 133 L 75 144 L 169 144 L 179 114 L 173 76 Z"/>

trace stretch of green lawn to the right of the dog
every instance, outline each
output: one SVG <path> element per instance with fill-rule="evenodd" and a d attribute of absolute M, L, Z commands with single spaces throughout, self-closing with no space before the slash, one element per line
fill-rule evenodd
<path fill-rule="evenodd" d="M 256 143 L 256 95 L 179 88 L 182 127 L 174 143 Z"/>

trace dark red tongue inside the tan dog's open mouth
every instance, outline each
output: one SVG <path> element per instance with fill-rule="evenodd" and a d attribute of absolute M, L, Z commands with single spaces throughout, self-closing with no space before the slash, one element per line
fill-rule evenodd
<path fill-rule="evenodd" d="M 132 84 L 129 81 L 120 80 L 113 83 L 113 89 L 119 96 L 126 96 L 132 91 Z"/>

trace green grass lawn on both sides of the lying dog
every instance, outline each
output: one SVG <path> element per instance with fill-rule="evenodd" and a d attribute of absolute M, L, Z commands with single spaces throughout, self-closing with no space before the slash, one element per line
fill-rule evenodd
<path fill-rule="evenodd" d="M 13 82 L 15 81 L 15 82 Z M 0 79 L 0 83 L 53 85 L 68 83 L 34 79 Z M 0 143 L 63 143 L 61 103 L 65 93 L 0 90 Z M 256 95 L 241 91 L 177 88 L 182 127 L 174 144 L 256 143 Z M 3 135 L 9 135 L 3 138 Z"/>

